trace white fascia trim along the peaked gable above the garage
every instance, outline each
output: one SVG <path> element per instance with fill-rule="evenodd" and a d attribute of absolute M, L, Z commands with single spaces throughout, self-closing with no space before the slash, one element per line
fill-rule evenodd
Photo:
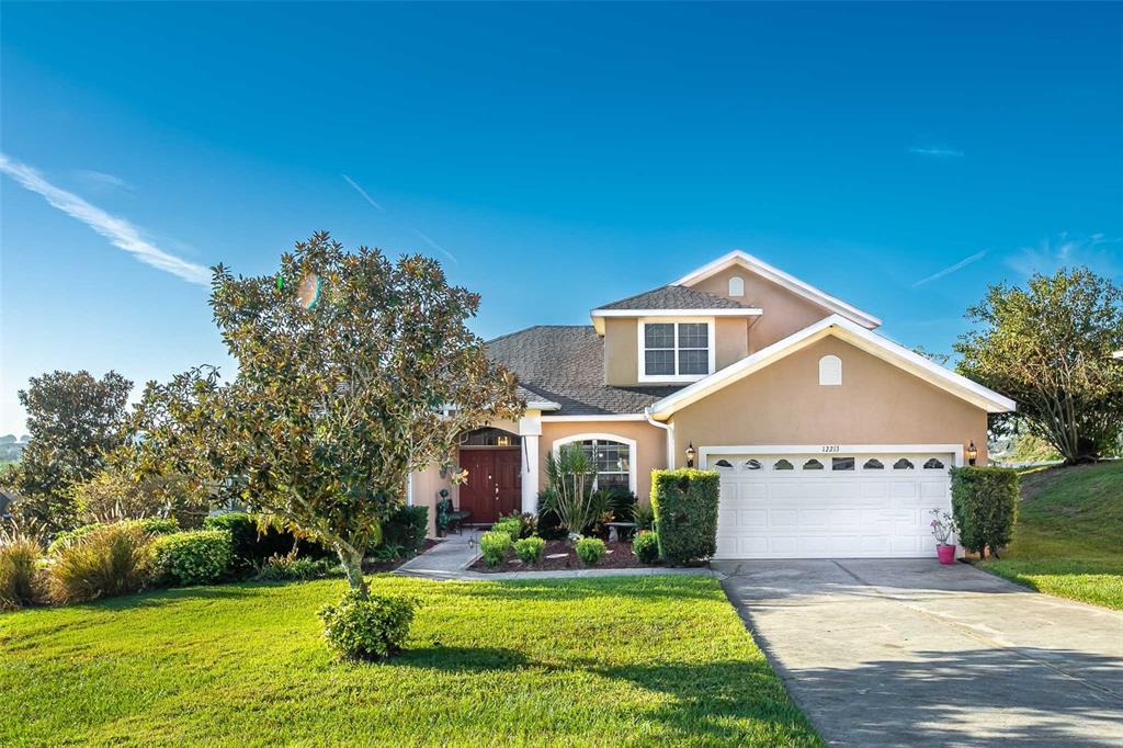
<path fill-rule="evenodd" d="M 674 394 L 667 395 L 652 404 L 649 412 L 658 420 L 666 420 L 675 411 L 682 410 L 686 405 L 695 403 L 718 390 L 831 335 L 849 343 L 856 348 L 877 356 L 882 361 L 905 370 L 930 384 L 934 384 L 941 390 L 986 410 L 988 413 L 1006 413 L 1017 409 L 1017 403 L 1010 398 L 998 394 L 977 382 L 973 382 L 966 376 L 956 374 L 929 358 L 913 353 L 876 332 L 871 332 L 840 314 L 832 314 L 827 319 L 819 320 L 814 325 L 809 325 L 783 340 L 777 340 L 770 346 L 761 348 L 751 356 L 742 358 L 704 380 L 700 380 Z"/>

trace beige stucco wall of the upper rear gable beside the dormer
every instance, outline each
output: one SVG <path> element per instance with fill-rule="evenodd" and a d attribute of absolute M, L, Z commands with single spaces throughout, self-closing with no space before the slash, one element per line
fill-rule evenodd
<path fill-rule="evenodd" d="M 729 295 L 729 279 L 733 275 L 740 275 L 745 281 L 743 297 Z M 699 281 L 692 288 L 764 310 L 749 330 L 750 354 L 831 314 L 825 307 L 812 303 L 738 265 Z"/>

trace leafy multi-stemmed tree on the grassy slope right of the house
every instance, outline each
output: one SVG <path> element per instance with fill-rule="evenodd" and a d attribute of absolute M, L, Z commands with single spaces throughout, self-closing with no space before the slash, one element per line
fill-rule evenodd
<path fill-rule="evenodd" d="M 1123 289 L 1086 267 L 993 285 L 955 345 L 965 376 L 1017 401 L 1030 432 L 1075 464 L 1113 454 L 1123 429 Z M 1004 418 L 1014 418 L 1005 414 Z"/>

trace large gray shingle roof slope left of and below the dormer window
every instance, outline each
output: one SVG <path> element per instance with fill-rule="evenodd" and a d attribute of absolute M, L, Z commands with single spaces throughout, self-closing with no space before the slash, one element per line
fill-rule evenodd
<path fill-rule="evenodd" d="M 604 384 L 604 340 L 588 325 L 539 325 L 487 341 L 487 355 L 519 377 L 527 400 L 562 405 L 553 416 L 641 413 L 677 386 Z"/>

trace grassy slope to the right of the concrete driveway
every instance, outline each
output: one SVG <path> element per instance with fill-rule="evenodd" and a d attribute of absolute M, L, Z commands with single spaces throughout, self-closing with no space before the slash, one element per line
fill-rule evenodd
<path fill-rule="evenodd" d="M 1123 460 L 1029 472 L 1017 512 L 1010 548 L 983 568 L 1123 610 Z"/>

